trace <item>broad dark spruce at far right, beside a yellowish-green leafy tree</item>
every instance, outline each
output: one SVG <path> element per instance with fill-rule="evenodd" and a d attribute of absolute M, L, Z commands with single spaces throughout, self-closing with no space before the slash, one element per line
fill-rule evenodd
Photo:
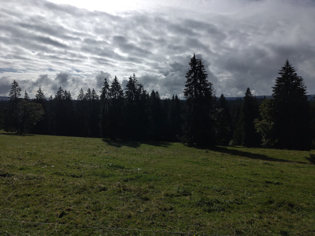
<path fill-rule="evenodd" d="M 272 87 L 272 118 L 278 140 L 276 146 L 286 149 L 309 149 L 310 119 L 306 86 L 289 60 L 286 60 L 279 71 L 280 76 Z"/>

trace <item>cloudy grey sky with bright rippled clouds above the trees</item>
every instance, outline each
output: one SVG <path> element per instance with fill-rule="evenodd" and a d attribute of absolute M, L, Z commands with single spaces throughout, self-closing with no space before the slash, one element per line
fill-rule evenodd
<path fill-rule="evenodd" d="M 314 0 L 1 0 L 0 96 L 59 86 L 77 98 L 116 75 L 183 98 L 195 53 L 216 95 L 271 95 L 288 59 L 315 94 Z"/>

